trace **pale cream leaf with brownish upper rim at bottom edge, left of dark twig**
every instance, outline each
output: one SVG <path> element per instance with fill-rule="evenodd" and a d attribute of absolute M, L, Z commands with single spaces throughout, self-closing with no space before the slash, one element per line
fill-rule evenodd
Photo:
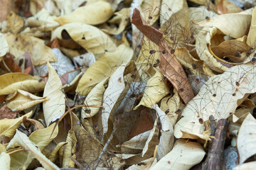
<path fill-rule="evenodd" d="M 174 148 L 151 169 L 191 169 L 199 164 L 206 152 L 198 142 L 177 140 Z"/>

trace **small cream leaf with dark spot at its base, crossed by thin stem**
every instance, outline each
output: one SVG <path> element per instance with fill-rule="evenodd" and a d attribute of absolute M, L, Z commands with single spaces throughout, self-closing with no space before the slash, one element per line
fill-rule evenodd
<path fill-rule="evenodd" d="M 100 81 L 86 96 L 84 104 L 90 106 L 102 106 L 103 94 L 105 91 L 105 82 L 107 79 Z M 100 108 L 82 107 L 82 118 L 90 118 L 96 115 L 100 111 Z"/>

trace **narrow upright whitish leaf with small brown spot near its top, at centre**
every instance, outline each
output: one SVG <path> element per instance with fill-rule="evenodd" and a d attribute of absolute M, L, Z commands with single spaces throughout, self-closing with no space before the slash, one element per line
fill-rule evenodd
<path fill-rule="evenodd" d="M 103 95 L 103 107 L 102 110 L 102 126 L 103 126 L 103 135 L 107 132 L 108 128 L 108 119 L 110 117 L 110 113 L 114 108 L 117 99 L 119 98 L 120 94 L 124 90 L 124 69 L 125 64 L 118 67 L 117 70 L 112 74 L 109 80 L 109 84 L 105 93 Z"/>

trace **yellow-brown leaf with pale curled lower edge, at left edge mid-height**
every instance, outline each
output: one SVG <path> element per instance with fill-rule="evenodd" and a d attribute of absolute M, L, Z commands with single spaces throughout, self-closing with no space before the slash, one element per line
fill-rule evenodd
<path fill-rule="evenodd" d="M 35 93 L 42 91 L 45 85 L 44 81 L 29 74 L 7 73 L 0 76 L 0 95 L 13 94 L 18 89 Z"/>

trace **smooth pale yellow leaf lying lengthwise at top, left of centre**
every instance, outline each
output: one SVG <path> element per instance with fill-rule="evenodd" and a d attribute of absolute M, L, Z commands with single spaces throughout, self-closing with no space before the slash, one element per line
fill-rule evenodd
<path fill-rule="evenodd" d="M 110 3 L 107 1 L 95 1 L 76 8 L 68 15 L 59 16 L 55 19 L 60 25 L 66 23 L 87 23 L 97 25 L 105 23 L 113 14 Z"/>

